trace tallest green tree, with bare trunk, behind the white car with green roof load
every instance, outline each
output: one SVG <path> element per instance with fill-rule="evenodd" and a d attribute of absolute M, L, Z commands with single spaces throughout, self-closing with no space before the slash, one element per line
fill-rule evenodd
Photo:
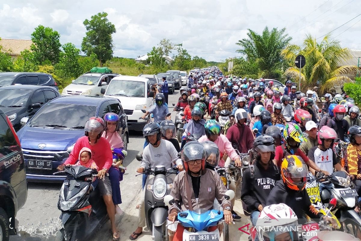
<path fill-rule="evenodd" d="M 87 33 L 83 38 L 82 51 L 90 56 L 95 53 L 100 66 L 113 56 L 113 38 L 112 34 L 116 33 L 113 23 L 109 22 L 108 13 L 102 12 L 91 16 L 91 20 L 84 20 Z"/>

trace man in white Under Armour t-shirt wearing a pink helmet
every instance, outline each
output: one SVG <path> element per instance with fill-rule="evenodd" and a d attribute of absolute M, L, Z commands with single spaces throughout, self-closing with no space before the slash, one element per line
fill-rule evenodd
<path fill-rule="evenodd" d="M 345 169 L 338 163 L 335 153 L 332 151 L 332 146 L 334 140 L 337 138 L 337 134 L 334 129 L 331 129 L 328 126 L 322 126 L 318 131 L 318 146 L 312 147 L 308 151 L 308 158 L 313 160 L 313 162 L 322 170 L 325 170 L 329 173 L 333 172 L 333 168 L 336 168 L 336 171 L 345 171 Z M 310 168 L 313 175 L 315 175 L 315 170 Z M 319 184 L 319 192 L 321 194 L 323 189 L 330 191 L 333 184 Z M 330 191 L 331 194 L 331 191 Z"/>

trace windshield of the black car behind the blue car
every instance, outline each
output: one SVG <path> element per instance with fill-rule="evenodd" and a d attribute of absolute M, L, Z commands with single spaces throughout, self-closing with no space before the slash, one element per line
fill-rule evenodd
<path fill-rule="evenodd" d="M 3 89 L 0 90 L 0 107 L 25 106 L 31 90 Z"/>

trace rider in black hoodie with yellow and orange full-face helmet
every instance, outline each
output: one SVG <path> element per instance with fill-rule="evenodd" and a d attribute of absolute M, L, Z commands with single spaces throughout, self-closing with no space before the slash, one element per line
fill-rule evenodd
<path fill-rule="evenodd" d="M 295 212 L 299 224 L 305 223 L 304 213 L 312 219 L 326 220 L 337 227 L 336 221 L 324 216 L 311 205 L 305 189 L 308 168 L 300 156 L 290 155 L 281 163 L 282 180 L 276 182 L 271 190 L 266 205 L 284 203 Z"/>

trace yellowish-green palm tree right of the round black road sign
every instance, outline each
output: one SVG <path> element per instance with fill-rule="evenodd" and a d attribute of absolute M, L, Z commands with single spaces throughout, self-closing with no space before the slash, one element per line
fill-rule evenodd
<path fill-rule="evenodd" d="M 306 58 L 306 64 L 301 69 L 301 89 L 306 90 L 313 86 L 321 86 L 321 92 L 329 90 L 334 86 L 340 86 L 344 82 L 351 82 L 346 76 L 357 71 L 357 66 L 339 66 L 340 61 L 351 57 L 348 48 L 342 48 L 340 41 L 331 39 L 327 34 L 321 41 L 306 35 L 302 48 L 295 44 L 287 46 L 282 51 L 282 56 L 288 61 L 288 66 L 294 66 L 297 55 Z M 296 67 L 289 67 L 284 73 L 285 76 L 299 81 L 300 72 Z"/>

